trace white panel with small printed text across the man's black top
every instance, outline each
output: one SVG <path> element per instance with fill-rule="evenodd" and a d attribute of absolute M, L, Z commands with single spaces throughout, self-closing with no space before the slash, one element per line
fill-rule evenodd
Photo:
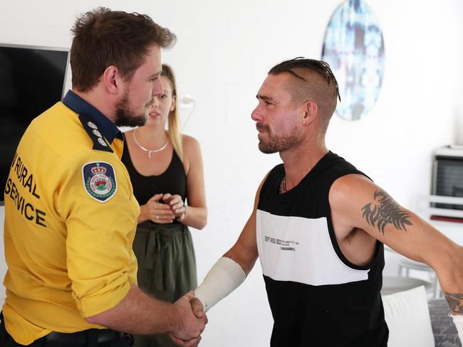
<path fill-rule="evenodd" d="M 277 281 L 313 286 L 368 279 L 336 254 L 323 218 L 286 217 L 257 210 L 256 237 L 262 271 Z"/>

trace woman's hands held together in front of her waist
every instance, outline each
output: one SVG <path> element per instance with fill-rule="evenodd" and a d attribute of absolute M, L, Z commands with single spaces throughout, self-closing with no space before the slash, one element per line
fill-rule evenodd
<path fill-rule="evenodd" d="M 182 222 L 185 213 L 186 208 L 181 196 L 170 193 L 156 194 L 145 205 L 140 206 L 139 223 L 143 220 L 151 220 L 158 224 L 169 224 L 174 219 Z"/>

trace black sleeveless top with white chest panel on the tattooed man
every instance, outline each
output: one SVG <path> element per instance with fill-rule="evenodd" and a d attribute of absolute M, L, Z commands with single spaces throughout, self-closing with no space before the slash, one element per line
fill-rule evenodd
<path fill-rule="evenodd" d="M 283 164 L 261 188 L 256 240 L 274 317 L 272 347 L 387 346 L 383 244 L 377 243 L 370 266 L 353 265 L 331 223 L 328 193 L 349 173 L 364 175 L 329 152 L 290 191 L 279 193 Z"/>

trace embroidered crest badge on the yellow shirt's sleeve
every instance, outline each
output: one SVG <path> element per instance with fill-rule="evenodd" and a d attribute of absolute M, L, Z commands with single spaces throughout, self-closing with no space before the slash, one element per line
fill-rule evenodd
<path fill-rule="evenodd" d="M 117 186 L 115 171 L 111 164 L 104 161 L 92 161 L 82 167 L 85 191 L 100 203 L 113 197 Z"/>

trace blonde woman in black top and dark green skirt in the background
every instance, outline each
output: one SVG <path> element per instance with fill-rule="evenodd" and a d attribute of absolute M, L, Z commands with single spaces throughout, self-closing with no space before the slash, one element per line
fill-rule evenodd
<path fill-rule="evenodd" d="M 138 286 L 157 299 L 175 302 L 197 287 L 188 227 L 204 228 L 207 208 L 201 150 L 196 139 L 180 134 L 172 69 L 162 65 L 160 78 L 164 93 L 155 97 L 146 124 L 125 132 L 122 161 L 140 203 L 133 242 Z M 166 335 L 135 336 L 134 346 L 175 344 Z"/>

